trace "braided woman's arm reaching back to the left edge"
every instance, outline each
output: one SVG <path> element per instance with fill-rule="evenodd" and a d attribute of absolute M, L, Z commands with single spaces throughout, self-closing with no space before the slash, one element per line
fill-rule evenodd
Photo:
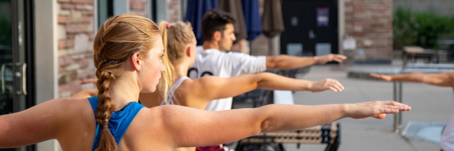
<path fill-rule="evenodd" d="M 26 146 L 50 139 L 58 139 L 61 129 L 81 117 L 83 104 L 70 98 L 43 102 L 25 111 L 0 116 L 0 148 Z M 77 106 L 77 107 L 75 107 Z M 84 107 L 91 109 L 88 106 Z M 75 121 L 80 122 L 80 121 Z M 64 132 L 63 132 L 64 133 Z"/>

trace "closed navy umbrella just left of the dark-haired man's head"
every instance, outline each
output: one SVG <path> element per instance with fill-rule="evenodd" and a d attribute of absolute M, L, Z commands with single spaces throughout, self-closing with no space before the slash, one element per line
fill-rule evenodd
<path fill-rule="evenodd" d="M 186 20 L 191 22 L 197 45 L 203 44 L 201 21 L 208 10 L 219 8 L 217 0 L 188 0 Z"/>

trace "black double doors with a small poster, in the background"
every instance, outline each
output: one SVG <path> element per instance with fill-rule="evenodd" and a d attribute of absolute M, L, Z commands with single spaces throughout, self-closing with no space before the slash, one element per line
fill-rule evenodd
<path fill-rule="evenodd" d="M 338 54 L 337 0 L 283 0 L 281 54 Z"/>

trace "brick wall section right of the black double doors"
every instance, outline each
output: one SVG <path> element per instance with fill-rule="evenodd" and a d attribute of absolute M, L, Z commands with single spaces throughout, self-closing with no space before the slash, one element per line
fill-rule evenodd
<path fill-rule="evenodd" d="M 355 36 L 355 58 L 390 60 L 392 58 L 393 0 L 345 0 L 345 33 Z"/>

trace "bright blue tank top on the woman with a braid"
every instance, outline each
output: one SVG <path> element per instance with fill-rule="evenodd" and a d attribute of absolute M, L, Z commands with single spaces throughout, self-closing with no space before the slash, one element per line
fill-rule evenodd
<path fill-rule="evenodd" d="M 88 98 L 91 108 L 93 109 L 93 112 L 98 109 L 98 96 L 94 97 L 89 97 Z M 121 141 L 121 138 L 123 137 L 124 133 L 129 127 L 129 124 L 133 121 L 134 117 L 137 115 L 137 113 L 142 109 L 143 106 L 142 104 L 139 104 L 138 102 L 131 102 L 123 109 L 117 112 L 112 112 L 112 116 L 109 119 L 109 131 L 112 133 L 112 135 L 115 138 L 115 142 L 117 142 L 117 146 Z M 96 114 L 95 114 L 96 118 Z M 101 129 L 99 128 L 99 124 L 96 123 L 96 133 L 94 137 L 94 143 L 93 143 L 93 148 L 92 151 L 94 151 L 96 148 L 98 148 L 99 144 L 99 137 L 101 136 Z"/>

